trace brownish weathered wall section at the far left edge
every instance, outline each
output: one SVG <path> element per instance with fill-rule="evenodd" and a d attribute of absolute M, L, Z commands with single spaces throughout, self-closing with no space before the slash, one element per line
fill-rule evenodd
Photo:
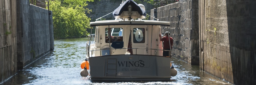
<path fill-rule="evenodd" d="M 17 72 L 16 1 L 0 1 L 0 84 Z"/>

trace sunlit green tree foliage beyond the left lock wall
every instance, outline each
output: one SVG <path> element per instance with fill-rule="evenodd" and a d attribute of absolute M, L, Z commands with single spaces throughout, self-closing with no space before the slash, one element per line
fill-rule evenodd
<path fill-rule="evenodd" d="M 90 18 L 85 12 L 86 1 L 94 0 L 51 0 L 49 9 L 53 12 L 54 38 L 83 37 L 91 28 Z"/>

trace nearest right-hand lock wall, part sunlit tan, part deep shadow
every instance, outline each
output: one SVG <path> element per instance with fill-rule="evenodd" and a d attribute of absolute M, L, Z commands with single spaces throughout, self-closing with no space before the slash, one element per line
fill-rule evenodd
<path fill-rule="evenodd" d="M 237 85 L 256 84 L 255 4 L 255 0 L 199 0 L 203 71 Z"/>

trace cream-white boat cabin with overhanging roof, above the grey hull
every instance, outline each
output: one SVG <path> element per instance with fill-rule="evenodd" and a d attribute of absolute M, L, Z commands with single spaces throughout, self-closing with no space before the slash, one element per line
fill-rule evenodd
<path fill-rule="evenodd" d="M 164 21 L 124 21 L 109 20 L 91 22 L 96 26 L 94 40 L 90 45 L 88 57 L 105 55 L 157 55 L 162 56 L 162 41 L 159 39 L 160 26 L 169 26 Z M 110 30 L 110 31 L 109 31 Z M 128 47 L 131 33 L 131 47 Z M 109 42 L 109 36 L 110 42 Z M 89 42 L 88 42 L 89 43 Z"/>

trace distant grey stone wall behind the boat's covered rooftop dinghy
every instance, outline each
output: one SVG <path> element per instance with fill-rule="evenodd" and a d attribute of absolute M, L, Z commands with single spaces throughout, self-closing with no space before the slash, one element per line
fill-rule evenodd
<path fill-rule="evenodd" d="M 91 22 L 96 21 L 97 18 L 107 15 L 108 13 L 113 12 L 117 9 L 118 6 L 122 3 L 122 0 L 94 0 L 94 2 L 87 2 L 89 5 L 86 6 L 89 9 L 92 9 L 90 14 L 87 14 L 89 18 L 91 18 Z M 146 9 L 146 13 L 150 14 L 150 10 L 153 8 L 153 5 L 148 4 L 146 2 L 137 3 L 143 4 Z M 113 14 L 109 14 L 105 17 L 106 20 L 114 20 Z M 98 20 L 99 21 L 99 20 Z"/>

